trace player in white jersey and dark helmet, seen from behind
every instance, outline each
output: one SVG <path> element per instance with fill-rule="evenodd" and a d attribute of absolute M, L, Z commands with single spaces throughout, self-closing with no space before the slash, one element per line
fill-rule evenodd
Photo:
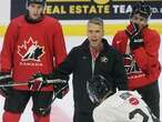
<path fill-rule="evenodd" d="M 160 122 L 135 91 L 118 91 L 102 77 L 94 75 L 87 84 L 93 103 L 94 122 Z"/>

